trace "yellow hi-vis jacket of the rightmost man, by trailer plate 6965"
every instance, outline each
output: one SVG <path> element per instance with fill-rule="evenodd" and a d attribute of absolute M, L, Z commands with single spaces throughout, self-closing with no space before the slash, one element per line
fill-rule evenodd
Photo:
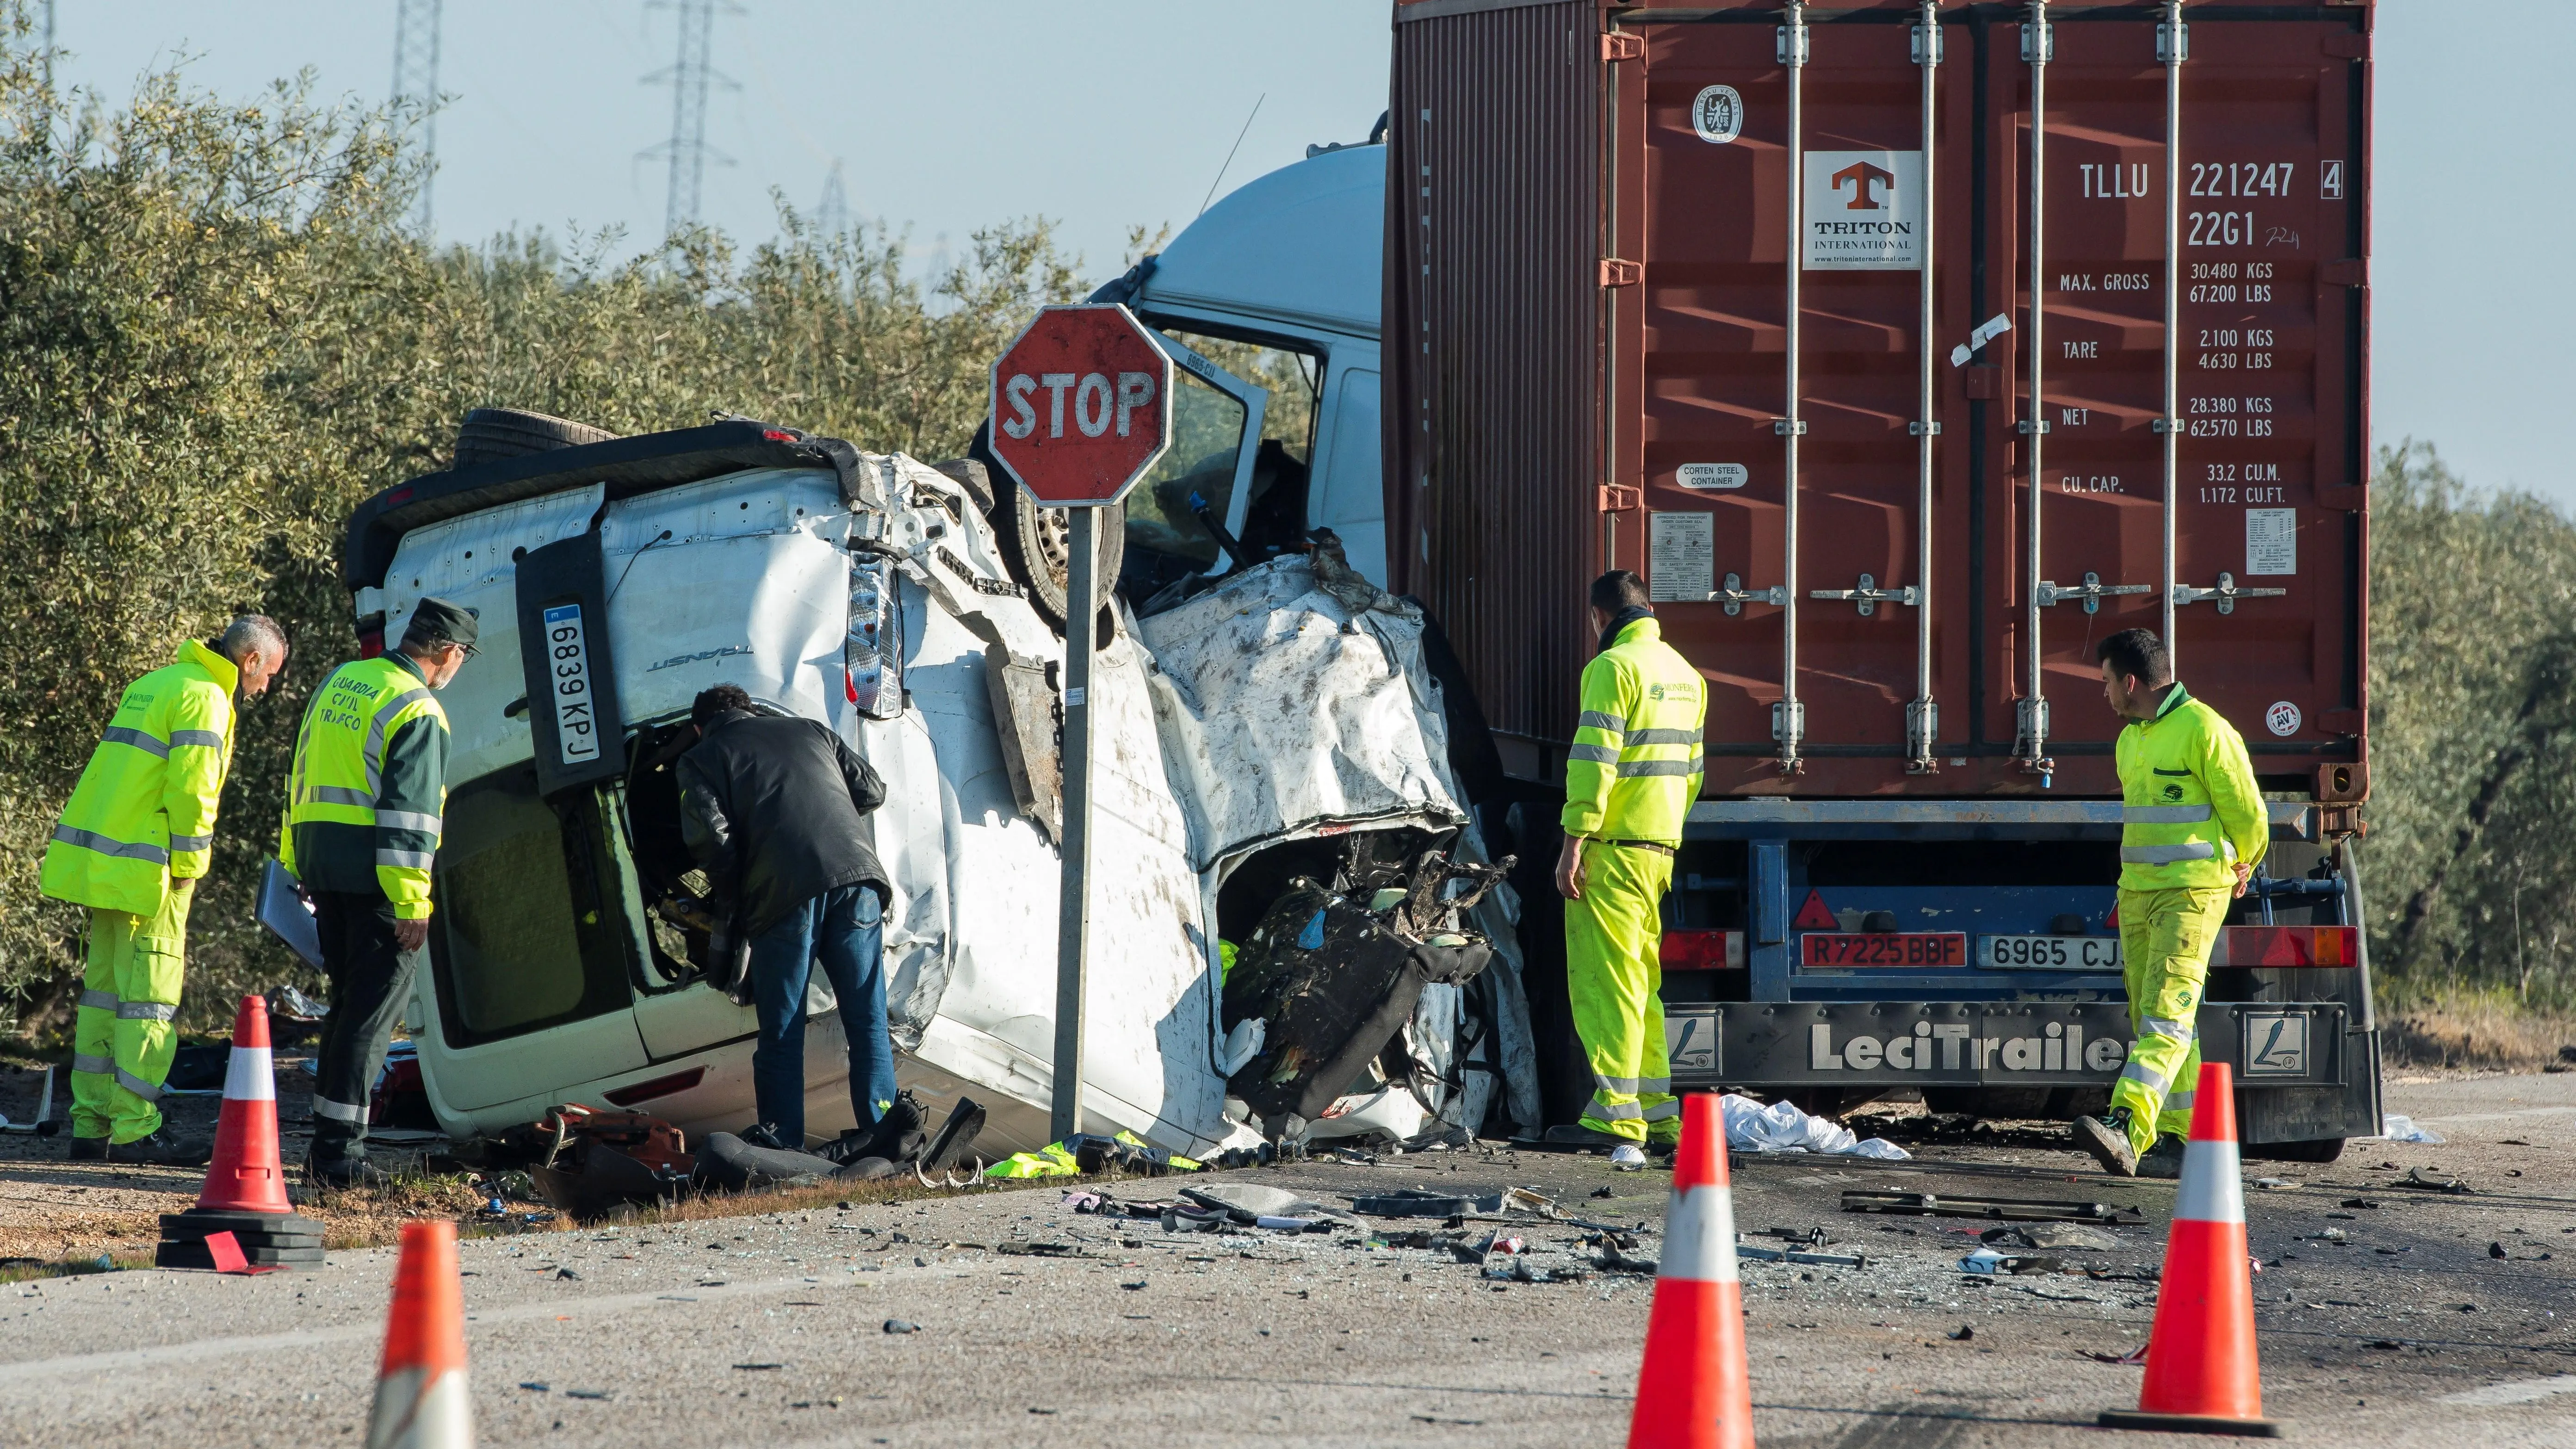
<path fill-rule="evenodd" d="M 2254 761 L 2233 724 L 2179 683 L 2120 730 L 2120 887 L 2233 887 L 2272 843 Z"/>

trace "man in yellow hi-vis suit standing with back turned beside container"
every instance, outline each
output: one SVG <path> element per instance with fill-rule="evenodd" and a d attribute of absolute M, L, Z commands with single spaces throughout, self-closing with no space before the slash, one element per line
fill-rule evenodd
<path fill-rule="evenodd" d="M 1584 665 L 1582 714 L 1566 750 L 1566 993 L 1592 1062 L 1582 1122 L 1548 1142 L 1607 1147 L 1618 1168 L 1672 1150 L 1682 1104 L 1664 1060 L 1664 890 L 1690 802 L 1700 797 L 1708 683 L 1672 645 L 1646 580 L 1592 580 L 1600 652 Z"/>

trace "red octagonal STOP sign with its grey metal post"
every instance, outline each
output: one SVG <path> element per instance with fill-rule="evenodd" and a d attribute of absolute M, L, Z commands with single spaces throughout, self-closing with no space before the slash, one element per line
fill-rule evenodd
<path fill-rule="evenodd" d="M 1048 1134 L 1082 1132 L 1082 985 L 1090 954 L 1092 647 L 1100 511 L 1172 441 L 1172 358 L 1126 307 L 1046 307 L 992 364 L 992 454 L 1064 508 L 1064 887 L 1056 918 L 1056 1088 Z"/>

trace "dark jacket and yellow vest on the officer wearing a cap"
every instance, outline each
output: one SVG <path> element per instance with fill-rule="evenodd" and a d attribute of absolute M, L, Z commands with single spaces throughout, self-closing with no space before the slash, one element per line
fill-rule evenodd
<path fill-rule="evenodd" d="M 448 804 L 448 712 L 404 655 L 340 665 L 304 709 L 278 864 L 312 890 L 384 892 L 428 920 Z"/>

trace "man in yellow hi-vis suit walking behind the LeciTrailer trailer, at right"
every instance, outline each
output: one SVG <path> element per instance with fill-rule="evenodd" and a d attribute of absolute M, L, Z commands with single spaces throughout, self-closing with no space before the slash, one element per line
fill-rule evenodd
<path fill-rule="evenodd" d="M 2074 1137 L 2102 1171 L 2182 1176 L 2200 1083 L 2200 995 L 2228 900 L 2272 843 L 2246 743 L 2174 681 L 2164 639 L 2123 629 L 2094 650 L 2102 699 L 2128 719 L 2120 766 L 2120 951 L 2136 1042 L 2107 1116 Z"/>

